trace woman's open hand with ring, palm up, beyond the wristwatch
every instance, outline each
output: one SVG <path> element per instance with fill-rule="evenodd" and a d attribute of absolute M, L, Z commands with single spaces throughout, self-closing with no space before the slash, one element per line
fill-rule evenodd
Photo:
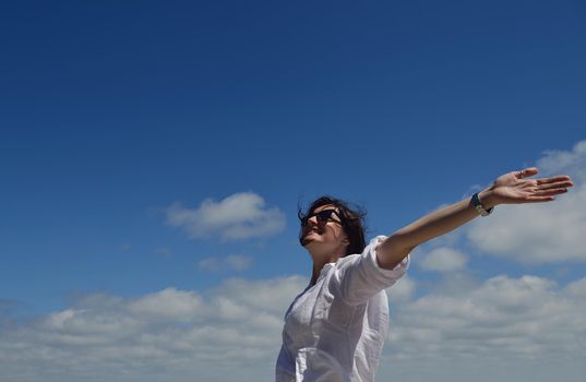
<path fill-rule="evenodd" d="M 529 167 L 499 177 L 489 189 L 492 204 L 551 202 L 555 195 L 567 192 L 567 188 L 574 186 L 566 175 L 527 179 L 538 171 L 536 167 Z"/>

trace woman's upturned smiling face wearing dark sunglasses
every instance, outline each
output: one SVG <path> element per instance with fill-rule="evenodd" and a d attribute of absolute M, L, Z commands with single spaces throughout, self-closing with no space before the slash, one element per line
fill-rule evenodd
<path fill-rule="evenodd" d="M 342 226 L 339 210 L 331 204 L 322 205 L 304 219 L 303 247 L 310 252 L 344 255 L 348 237 Z"/>

